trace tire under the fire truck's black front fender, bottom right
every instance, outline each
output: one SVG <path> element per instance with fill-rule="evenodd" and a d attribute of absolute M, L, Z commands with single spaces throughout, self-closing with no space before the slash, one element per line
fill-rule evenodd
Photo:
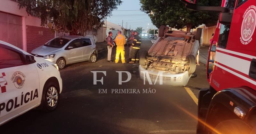
<path fill-rule="evenodd" d="M 249 134 L 251 132 L 251 128 L 239 119 L 222 121 L 215 127 L 215 130 L 221 134 Z M 212 132 L 212 134 L 217 133 Z"/>

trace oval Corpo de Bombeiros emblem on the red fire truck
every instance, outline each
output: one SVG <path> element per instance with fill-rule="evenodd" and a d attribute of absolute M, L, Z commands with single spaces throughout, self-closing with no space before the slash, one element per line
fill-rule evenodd
<path fill-rule="evenodd" d="M 252 41 L 252 35 L 256 27 L 256 6 L 249 6 L 244 12 L 243 18 L 240 41 L 243 45 L 247 45 Z"/>

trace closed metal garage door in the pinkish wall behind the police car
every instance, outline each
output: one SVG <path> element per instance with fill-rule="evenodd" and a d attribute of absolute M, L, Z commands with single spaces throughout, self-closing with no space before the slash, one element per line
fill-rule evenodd
<path fill-rule="evenodd" d="M 0 40 L 22 49 L 22 18 L 0 12 Z"/>

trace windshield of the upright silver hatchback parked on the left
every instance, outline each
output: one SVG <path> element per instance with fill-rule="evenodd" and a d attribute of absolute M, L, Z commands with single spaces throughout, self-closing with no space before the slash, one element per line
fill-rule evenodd
<path fill-rule="evenodd" d="M 65 46 L 68 43 L 68 41 L 70 41 L 70 39 L 55 38 L 55 39 L 47 42 L 46 44 L 44 44 L 44 46 L 61 48 L 61 47 Z"/>

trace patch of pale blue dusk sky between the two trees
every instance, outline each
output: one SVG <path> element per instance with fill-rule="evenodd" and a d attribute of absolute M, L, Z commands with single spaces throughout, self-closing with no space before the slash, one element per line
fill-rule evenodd
<path fill-rule="evenodd" d="M 112 16 L 107 18 L 107 21 L 115 23 L 117 25 L 130 29 L 136 29 L 137 27 L 143 27 L 144 30 L 154 29 L 148 14 L 142 11 L 123 11 L 123 10 L 140 10 L 140 0 L 122 0 L 123 3 L 118 6 L 118 9 L 112 12 Z M 128 26 L 126 27 L 126 23 Z M 149 24 L 149 25 L 148 25 Z M 148 28 L 147 28 L 148 27 Z"/>

